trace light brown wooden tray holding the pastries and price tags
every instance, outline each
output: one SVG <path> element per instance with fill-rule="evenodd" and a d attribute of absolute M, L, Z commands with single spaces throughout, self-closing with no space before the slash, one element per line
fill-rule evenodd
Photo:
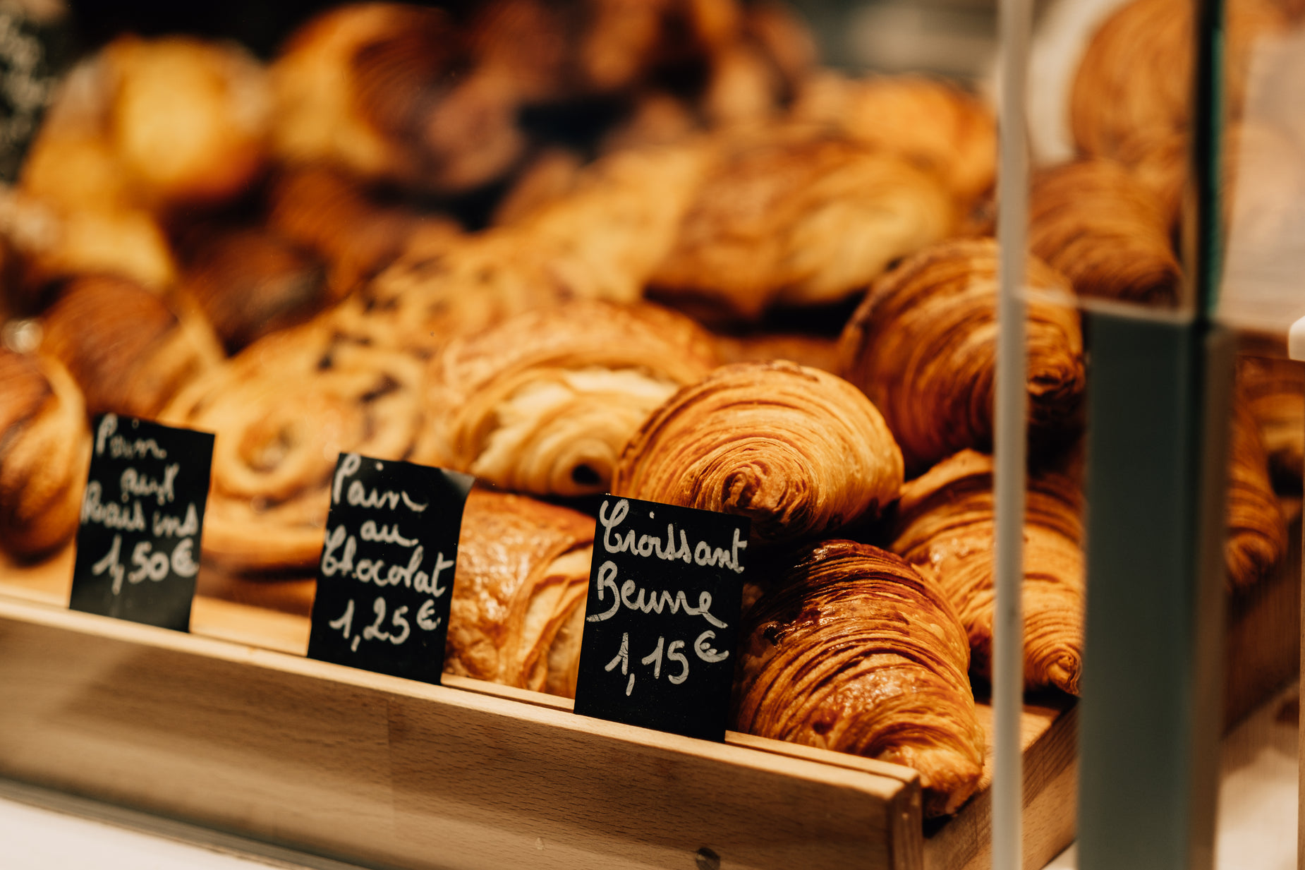
<path fill-rule="evenodd" d="M 989 863 L 987 782 L 925 826 L 906 767 L 317 662 L 303 615 L 204 594 L 189 635 L 74 613 L 70 567 L 0 566 L 4 777 L 382 867 Z M 1065 696 L 1024 711 L 1028 867 L 1074 836 L 1075 721 Z"/>

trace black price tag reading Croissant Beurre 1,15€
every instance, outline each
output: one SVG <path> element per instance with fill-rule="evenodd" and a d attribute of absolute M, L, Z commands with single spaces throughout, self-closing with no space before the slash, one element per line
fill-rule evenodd
<path fill-rule="evenodd" d="M 576 712 L 723 741 L 750 521 L 606 496 Z"/>

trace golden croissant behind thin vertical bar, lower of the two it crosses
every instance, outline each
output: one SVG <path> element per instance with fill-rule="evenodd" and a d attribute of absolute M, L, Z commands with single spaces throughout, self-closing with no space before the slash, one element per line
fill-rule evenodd
<path fill-rule="evenodd" d="M 992 678 L 992 457 L 962 451 L 902 487 L 891 550 L 937 579 L 960 617 L 971 669 Z M 1024 508 L 1024 688 L 1078 695 L 1083 665 L 1083 496 L 1070 474 L 1028 475 Z"/>

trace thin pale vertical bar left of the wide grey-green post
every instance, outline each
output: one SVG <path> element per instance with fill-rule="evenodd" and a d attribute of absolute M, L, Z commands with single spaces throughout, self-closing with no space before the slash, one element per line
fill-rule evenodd
<path fill-rule="evenodd" d="M 994 431 L 996 601 L 993 617 L 992 866 L 1019 870 L 1023 860 L 1023 759 L 1019 720 L 1024 696 L 1024 260 L 1028 235 L 1028 150 L 1024 125 L 1031 8 L 1001 0 L 1001 106 L 997 201 L 1000 246 L 997 408 Z"/>

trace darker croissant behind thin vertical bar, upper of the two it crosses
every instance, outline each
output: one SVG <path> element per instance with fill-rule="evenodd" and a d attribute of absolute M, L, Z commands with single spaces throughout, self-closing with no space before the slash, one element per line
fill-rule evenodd
<path fill-rule="evenodd" d="M 1082 425 L 1083 337 L 1064 277 L 1030 257 L 1024 283 L 1066 297 L 1027 308 L 1028 436 L 1052 447 Z M 843 329 L 842 374 L 883 411 L 919 473 L 992 444 L 996 342 L 997 243 L 954 239 L 874 283 Z"/>

